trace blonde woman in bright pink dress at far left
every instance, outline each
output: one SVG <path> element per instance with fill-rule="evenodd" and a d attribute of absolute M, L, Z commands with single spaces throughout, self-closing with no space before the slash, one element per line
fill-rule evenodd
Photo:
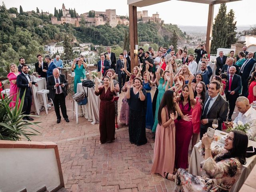
<path fill-rule="evenodd" d="M 18 86 L 16 84 L 16 80 L 19 74 L 20 72 L 18 71 L 18 67 L 16 66 L 16 64 L 11 64 L 10 73 L 7 75 L 11 84 L 10 96 L 12 96 L 12 102 L 10 103 L 10 107 L 14 107 L 17 100 Z M 20 103 L 20 100 L 19 100 L 19 103 Z"/>

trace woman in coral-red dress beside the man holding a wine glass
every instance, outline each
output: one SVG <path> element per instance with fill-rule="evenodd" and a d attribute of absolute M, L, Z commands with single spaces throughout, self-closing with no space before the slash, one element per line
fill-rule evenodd
<path fill-rule="evenodd" d="M 200 81 L 195 86 L 194 91 L 194 109 L 192 111 L 192 125 L 193 125 L 193 135 L 191 142 L 191 150 L 193 150 L 194 145 L 197 142 L 198 134 L 200 133 L 200 120 L 202 115 L 202 107 L 204 105 L 206 86 L 204 82 Z"/>

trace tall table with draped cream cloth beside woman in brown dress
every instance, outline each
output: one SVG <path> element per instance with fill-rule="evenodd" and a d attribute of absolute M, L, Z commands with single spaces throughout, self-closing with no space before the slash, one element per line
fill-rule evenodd
<path fill-rule="evenodd" d="M 82 113 L 84 117 L 94 125 L 100 122 L 100 96 L 94 94 L 94 88 L 88 88 L 87 93 L 87 88 L 84 87 L 83 89 L 82 83 L 78 83 L 76 92 L 84 92 L 84 90 L 87 94 L 88 102 L 86 105 L 81 105 Z M 81 110 L 79 113 L 81 113 Z"/>

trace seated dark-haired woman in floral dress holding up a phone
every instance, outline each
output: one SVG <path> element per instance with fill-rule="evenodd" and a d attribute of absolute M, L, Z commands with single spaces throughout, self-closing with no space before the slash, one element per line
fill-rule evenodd
<path fill-rule="evenodd" d="M 182 168 L 178 169 L 176 175 L 164 172 L 169 180 L 175 180 L 175 192 L 224 192 L 229 191 L 238 180 L 242 165 L 246 164 L 248 136 L 234 130 L 228 134 L 224 148 L 211 148 L 212 140 L 204 134 L 199 148 L 204 155 L 204 161 L 200 164 L 204 176 L 194 176 Z"/>

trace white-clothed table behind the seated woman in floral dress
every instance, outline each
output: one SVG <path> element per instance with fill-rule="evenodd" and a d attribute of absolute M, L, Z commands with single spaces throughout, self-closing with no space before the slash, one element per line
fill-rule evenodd
<path fill-rule="evenodd" d="M 226 132 L 223 132 L 223 131 L 220 131 L 220 130 L 215 130 L 215 135 L 221 136 L 221 137 L 225 136 L 225 135 L 222 135 L 221 133 L 226 134 L 226 136 L 228 135 L 228 133 L 226 133 Z M 219 144 L 219 142 L 218 143 L 212 142 L 211 147 L 214 147 L 214 146 L 220 145 L 220 144 Z M 198 142 L 193 148 L 193 151 L 192 151 L 192 154 L 191 154 L 191 157 L 190 157 L 188 172 L 190 172 L 193 175 L 202 176 L 202 172 L 200 170 L 200 162 L 202 162 L 204 160 L 204 158 L 198 152 L 198 146 L 199 145 L 200 145 L 200 142 Z M 249 140 L 248 146 L 253 146 L 253 147 L 256 148 L 256 142 L 253 142 L 253 141 Z M 236 183 L 232 186 L 232 188 L 230 190 L 231 192 L 238 192 L 239 191 L 239 189 L 244 184 L 247 176 L 250 174 L 250 172 L 253 169 L 255 164 L 256 164 L 256 155 L 254 155 L 250 158 L 246 158 L 246 164 L 243 165 L 242 173 L 241 173 L 239 179 L 236 181 Z"/>

